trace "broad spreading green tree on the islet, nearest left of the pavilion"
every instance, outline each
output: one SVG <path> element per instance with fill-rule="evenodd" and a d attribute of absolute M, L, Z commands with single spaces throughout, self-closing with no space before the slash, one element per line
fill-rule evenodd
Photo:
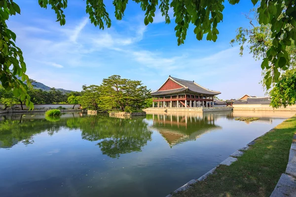
<path fill-rule="evenodd" d="M 100 107 L 107 111 L 138 111 L 145 107 L 145 101 L 150 96 L 149 91 L 141 81 L 122 79 L 119 75 L 112 75 L 103 79 Z"/>

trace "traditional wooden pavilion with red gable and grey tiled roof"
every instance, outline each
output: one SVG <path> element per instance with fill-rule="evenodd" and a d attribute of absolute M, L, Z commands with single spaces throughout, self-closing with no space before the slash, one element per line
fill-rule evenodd
<path fill-rule="evenodd" d="M 155 92 L 153 107 L 214 107 L 214 96 L 218 91 L 206 89 L 194 81 L 169 76 Z"/>

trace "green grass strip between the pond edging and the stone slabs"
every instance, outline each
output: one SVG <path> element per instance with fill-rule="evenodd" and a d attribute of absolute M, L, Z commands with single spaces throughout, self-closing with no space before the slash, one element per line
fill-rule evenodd
<path fill-rule="evenodd" d="M 230 166 L 222 165 L 206 180 L 173 197 L 269 197 L 288 164 L 296 116 L 259 137 Z"/>

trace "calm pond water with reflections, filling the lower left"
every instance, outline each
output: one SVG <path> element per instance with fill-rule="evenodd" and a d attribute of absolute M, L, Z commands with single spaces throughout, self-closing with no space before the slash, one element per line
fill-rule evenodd
<path fill-rule="evenodd" d="M 0 197 L 164 197 L 293 115 L 2 115 Z"/>

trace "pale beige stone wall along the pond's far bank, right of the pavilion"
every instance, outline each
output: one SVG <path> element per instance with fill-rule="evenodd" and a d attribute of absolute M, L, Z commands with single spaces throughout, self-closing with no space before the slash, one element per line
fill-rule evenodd
<path fill-rule="evenodd" d="M 296 105 L 273 109 L 268 104 L 233 104 L 233 110 L 258 110 L 258 111 L 296 111 Z"/>

